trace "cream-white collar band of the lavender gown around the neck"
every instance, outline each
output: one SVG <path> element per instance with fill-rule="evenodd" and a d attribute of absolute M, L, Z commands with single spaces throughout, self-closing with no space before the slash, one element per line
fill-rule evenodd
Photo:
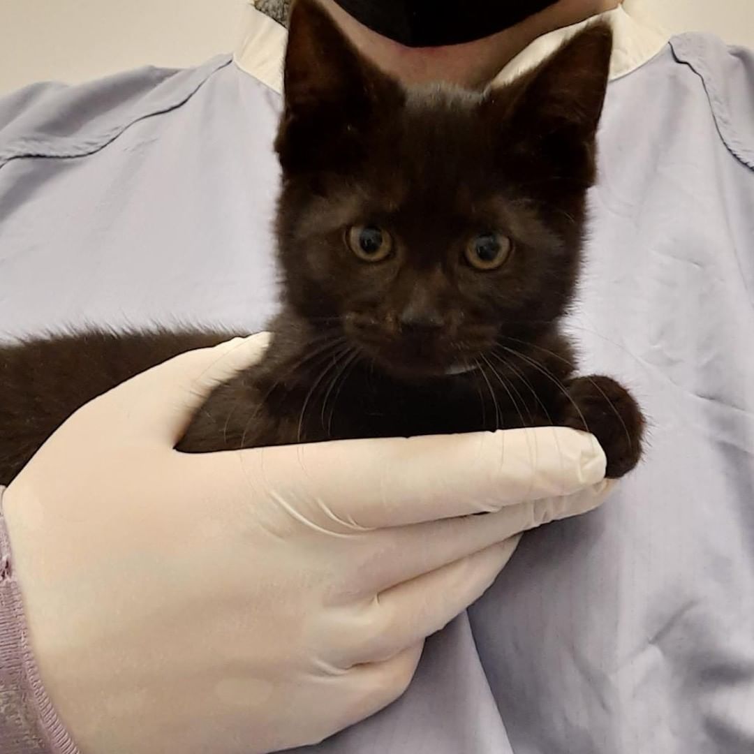
<path fill-rule="evenodd" d="M 272 90 L 283 90 L 283 61 L 287 31 L 279 23 L 257 11 L 247 0 L 244 33 L 234 53 L 236 65 L 244 72 L 262 81 Z M 642 66 L 667 44 L 670 36 L 661 29 L 648 11 L 646 0 L 623 0 L 614 11 L 607 11 L 602 18 L 613 29 L 614 48 L 610 63 L 610 78 L 620 78 Z M 529 44 L 526 50 L 516 55 L 495 78 L 504 83 L 532 68 L 553 53 L 563 41 L 582 29 L 588 21 L 556 29 Z"/>

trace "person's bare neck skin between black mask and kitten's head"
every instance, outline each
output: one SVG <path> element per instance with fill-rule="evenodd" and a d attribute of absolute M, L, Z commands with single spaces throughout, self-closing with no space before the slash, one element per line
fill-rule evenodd
<path fill-rule="evenodd" d="M 409 48 L 372 32 L 334 0 L 320 0 L 351 41 L 380 68 L 406 84 L 448 81 L 484 87 L 536 38 L 621 5 L 621 0 L 559 0 L 497 34 L 440 48 Z"/>

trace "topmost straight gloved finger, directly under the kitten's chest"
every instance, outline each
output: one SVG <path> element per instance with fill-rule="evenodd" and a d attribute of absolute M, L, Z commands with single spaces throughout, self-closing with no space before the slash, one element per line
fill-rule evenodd
<path fill-rule="evenodd" d="M 277 446 L 242 451 L 241 463 L 311 522 L 344 533 L 571 495 L 605 477 L 596 438 L 564 427 Z"/>

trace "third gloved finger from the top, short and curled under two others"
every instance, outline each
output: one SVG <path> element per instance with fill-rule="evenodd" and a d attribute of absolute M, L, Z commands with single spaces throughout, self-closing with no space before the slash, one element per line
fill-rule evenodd
<path fill-rule="evenodd" d="M 519 541 L 516 535 L 366 601 L 334 629 L 333 664 L 378 662 L 439 631 L 492 586 Z"/>

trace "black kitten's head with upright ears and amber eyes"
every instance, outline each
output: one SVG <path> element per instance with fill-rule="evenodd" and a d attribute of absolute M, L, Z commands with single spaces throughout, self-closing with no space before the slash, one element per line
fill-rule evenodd
<path fill-rule="evenodd" d="M 276 143 L 289 308 L 409 378 L 555 327 L 574 293 L 610 53 L 598 24 L 506 87 L 406 90 L 299 0 Z"/>

